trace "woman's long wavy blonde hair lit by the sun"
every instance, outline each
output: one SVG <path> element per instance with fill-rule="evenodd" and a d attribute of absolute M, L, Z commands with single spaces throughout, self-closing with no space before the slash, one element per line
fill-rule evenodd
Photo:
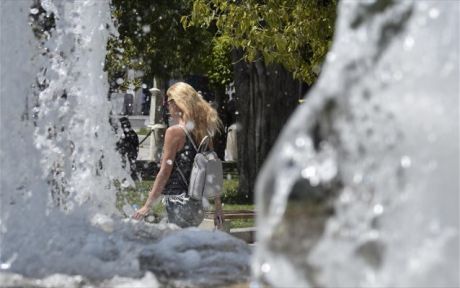
<path fill-rule="evenodd" d="M 222 129 L 217 111 L 191 85 L 177 82 L 169 87 L 166 95 L 168 101 L 174 100 L 182 111 L 181 118 L 191 130 L 197 145 L 206 135 L 213 137 Z"/>

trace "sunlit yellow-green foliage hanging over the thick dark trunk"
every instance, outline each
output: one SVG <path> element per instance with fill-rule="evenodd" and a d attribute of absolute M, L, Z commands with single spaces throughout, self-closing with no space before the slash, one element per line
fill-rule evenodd
<path fill-rule="evenodd" d="M 243 49 L 246 60 L 282 64 L 311 84 L 332 41 L 336 6 L 336 0 L 195 0 L 181 22 L 215 25 L 219 38 Z"/>

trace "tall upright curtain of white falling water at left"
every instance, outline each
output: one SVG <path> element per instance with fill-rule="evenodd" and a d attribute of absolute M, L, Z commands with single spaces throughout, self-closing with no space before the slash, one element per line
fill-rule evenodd
<path fill-rule="evenodd" d="M 56 27 L 42 46 L 28 25 L 26 11 L 32 4 L 3 1 L 1 9 L 0 258 L 2 263 L 15 259 L 8 267 L 11 271 L 44 276 L 53 266 L 70 269 L 62 259 L 44 265 L 45 259 L 58 253 L 72 258 L 63 247 L 75 245 L 78 250 L 72 240 L 82 237 L 78 228 L 83 234 L 92 229 L 84 228 L 87 218 L 96 212 L 116 213 L 112 181 L 126 177 L 126 172 L 120 168 L 120 156 L 113 149 L 116 137 L 107 121 L 105 52 L 100 47 L 105 47 L 108 36 L 108 3 L 43 1 Z M 40 55 L 40 49 L 48 52 Z M 36 79 L 46 84 L 43 89 L 31 85 Z M 104 226 L 98 219 L 102 218 L 93 221 Z M 74 231 L 75 238 L 60 238 L 59 231 Z M 92 240 L 83 240 L 91 247 Z M 75 262 L 86 262 L 84 257 L 75 256 Z"/>

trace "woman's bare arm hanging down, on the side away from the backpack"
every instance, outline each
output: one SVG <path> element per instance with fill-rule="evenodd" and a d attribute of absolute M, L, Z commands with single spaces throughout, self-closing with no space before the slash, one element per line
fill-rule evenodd
<path fill-rule="evenodd" d="M 165 143 L 163 145 L 163 157 L 161 160 L 160 171 L 158 172 L 155 182 L 153 183 L 152 189 L 149 192 L 149 196 L 145 201 L 144 206 L 134 213 L 132 216 L 134 219 L 140 220 L 145 217 L 155 200 L 160 197 L 166 183 L 168 183 L 169 176 L 173 169 L 174 159 L 176 153 L 179 150 L 180 142 L 184 140 L 184 132 L 180 127 L 169 127 L 165 133 Z"/>

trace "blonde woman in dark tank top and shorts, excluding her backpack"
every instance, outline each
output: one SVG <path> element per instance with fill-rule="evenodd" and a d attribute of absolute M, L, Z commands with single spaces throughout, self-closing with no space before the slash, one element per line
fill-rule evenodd
<path fill-rule="evenodd" d="M 206 135 L 212 137 L 222 123 L 217 112 L 189 84 L 178 82 L 172 85 L 166 96 L 171 120 L 177 124 L 166 129 L 160 171 L 144 206 L 134 213 L 133 218 L 139 220 L 145 217 L 163 193 L 163 203 L 170 223 L 182 228 L 198 226 L 204 218 L 203 203 L 188 197 L 188 187 L 180 173 L 186 179 L 190 178 L 196 154 L 194 143 L 199 144 Z M 221 228 L 223 218 L 219 195 L 214 202 L 214 223 Z"/>

